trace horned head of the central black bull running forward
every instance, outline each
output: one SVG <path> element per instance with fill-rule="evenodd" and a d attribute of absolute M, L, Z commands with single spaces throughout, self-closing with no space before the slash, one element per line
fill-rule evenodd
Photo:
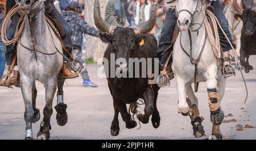
<path fill-rule="evenodd" d="M 126 63 L 116 66 L 117 70 L 127 70 L 129 58 L 134 58 L 137 48 L 139 47 L 144 34 L 149 33 L 154 28 L 156 22 L 156 7 L 152 6 L 150 19 L 138 26 L 117 27 L 112 26 L 101 18 L 100 3 L 94 1 L 94 23 L 98 30 L 101 31 L 101 40 L 113 45 L 115 58 L 125 58 Z"/>

